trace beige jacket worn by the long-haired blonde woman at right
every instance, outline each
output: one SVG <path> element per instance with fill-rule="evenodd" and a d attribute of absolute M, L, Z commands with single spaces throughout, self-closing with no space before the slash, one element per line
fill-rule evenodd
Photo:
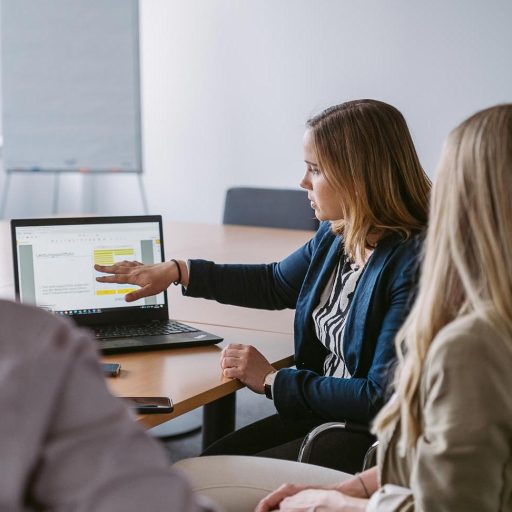
<path fill-rule="evenodd" d="M 512 511 L 512 339 L 476 316 L 445 327 L 422 378 L 423 434 L 402 456 L 381 439 L 369 512 Z"/>

